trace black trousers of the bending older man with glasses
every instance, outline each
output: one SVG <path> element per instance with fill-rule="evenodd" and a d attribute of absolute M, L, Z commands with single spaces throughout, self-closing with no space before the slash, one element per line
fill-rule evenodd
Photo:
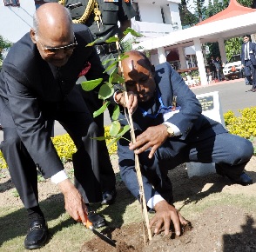
<path fill-rule="evenodd" d="M 93 122 L 89 110 L 85 112 L 58 110 L 49 113 L 50 121 L 57 120 L 74 141 L 77 152 L 73 155 L 75 185 L 85 202 L 101 202 L 102 193 L 98 172 L 98 126 Z M 46 117 L 45 116 L 45 117 Z M 38 205 L 37 166 L 24 147 L 13 122 L 4 122 L 1 150 L 10 169 L 10 176 L 26 209 Z M 51 124 L 45 121 L 45 130 L 51 137 Z M 42 153 L 44 155 L 44 152 Z M 54 165 L 54 163 L 53 163 Z"/>

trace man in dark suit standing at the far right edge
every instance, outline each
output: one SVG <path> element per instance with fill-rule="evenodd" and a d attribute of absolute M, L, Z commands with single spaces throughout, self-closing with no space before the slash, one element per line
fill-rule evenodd
<path fill-rule="evenodd" d="M 249 84 L 253 85 L 252 91 L 256 91 L 256 44 L 250 41 L 250 35 L 244 35 L 241 49 L 241 63 L 245 70 L 245 76 Z M 253 79 L 252 79 L 253 76 Z"/>

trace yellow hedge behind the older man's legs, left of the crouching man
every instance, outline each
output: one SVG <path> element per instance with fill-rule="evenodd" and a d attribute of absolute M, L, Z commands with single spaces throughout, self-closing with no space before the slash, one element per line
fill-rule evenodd
<path fill-rule="evenodd" d="M 105 136 L 110 136 L 110 126 L 105 127 Z M 69 134 L 64 134 L 61 136 L 54 136 L 51 138 L 52 143 L 57 150 L 57 155 L 60 157 L 62 162 L 67 162 L 72 160 L 72 155 L 77 151 L 75 144 L 73 143 L 71 136 Z M 106 140 L 106 143 L 110 143 L 111 140 Z M 109 155 L 117 153 L 117 143 L 114 143 L 109 148 Z M 0 151 L 0 169 L 7 168 L 7 163 L 3 158 L 3 154 Z"/>

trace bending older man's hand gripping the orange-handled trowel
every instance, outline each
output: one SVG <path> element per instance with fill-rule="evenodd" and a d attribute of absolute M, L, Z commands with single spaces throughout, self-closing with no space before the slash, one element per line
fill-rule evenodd
<path fill-rule="evenodd" d="M 75 186 L 69 179 L 65 179 L 57 185 L 64 194 L 65 209 L 69 215 L 77 222 L 86 222 L 87 209 L 83 197 Z"/>

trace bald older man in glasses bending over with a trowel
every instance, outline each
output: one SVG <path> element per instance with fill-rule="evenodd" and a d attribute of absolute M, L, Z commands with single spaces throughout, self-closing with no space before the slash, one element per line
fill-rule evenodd
<path fill-rule="evenodd" d="M 37 169 L 64 194 L 65 209 L 85 222 L 85 202 L 101 202 L 98 178 L 93 174 L 97 136 L 83 97 L 73 89 L 78 76 L 88 80 L 104 77 L 104 68 L 91 43 L 91 32 L 72 24 L 69 11 L 58 3 L 45 3 L 34 15 L 34 27 L 10 49 L 0 75 L 1 150 L 10 176 L 28 210 L 29 231 L 25 249 L 38 249 L 47 242 L 48 229 L 39 208 Z M 64 126 L 76 144 L 73 155 L 75 185 L 51 143 L 48 120 Z M 50 128 L 50 129 L 49 129 Z M 90 143 L 90 144 L 88 144 Z M 96 227 L 104 219 L 91 214 Z"/>

